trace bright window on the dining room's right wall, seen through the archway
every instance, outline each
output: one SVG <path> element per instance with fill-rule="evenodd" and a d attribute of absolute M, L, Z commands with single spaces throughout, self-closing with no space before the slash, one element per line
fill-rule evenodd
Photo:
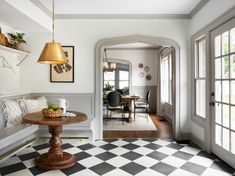
<path fill-rule="evenodd" d="M 172 104 L 172 55 L 161 59 L 161 99 Z"/>

